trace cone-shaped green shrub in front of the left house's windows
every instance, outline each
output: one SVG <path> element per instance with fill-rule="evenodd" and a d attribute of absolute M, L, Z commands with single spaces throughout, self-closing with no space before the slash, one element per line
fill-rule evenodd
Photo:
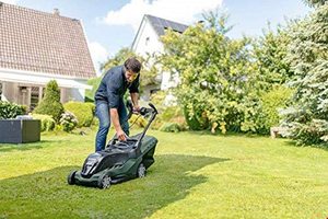
<path fill-rule="evenodd" d="M 59 122 L 60 115 L 63 113 L 63 106 L 60 103 L 60 90 L 56 80 L 47 83 L 45 96 L 34 108 L 33 113 L 50 115 L 56 122 Z"/>

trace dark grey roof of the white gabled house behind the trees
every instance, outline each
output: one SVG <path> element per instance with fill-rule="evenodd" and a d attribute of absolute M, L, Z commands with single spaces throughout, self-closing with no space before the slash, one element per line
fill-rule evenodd
<path fill-rule="evenodd" d="M 188 25 L 185 24 L 180 24 L 174 21 L 168 21 L 165 19 L 161 19 L 157 16 L 153 16 L 150 14 L 145 14 L 144 18 L 147 18 L 151 25 L 153 26 L 153 28 L 155 30 L 156 34 L 159 36 L 162 36 L 165 34 L 165 30 L 167 28 L 172 28 L 173 31 L 179 32 L 179 33 L 184 33 L 187 28 Z"/>

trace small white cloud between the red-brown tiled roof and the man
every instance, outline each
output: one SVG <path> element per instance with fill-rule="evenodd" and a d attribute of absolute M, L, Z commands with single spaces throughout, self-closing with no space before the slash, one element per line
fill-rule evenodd
<path fill-rule="evenodd" d="M 92 60 L 94 62 L 94 66 L 96 68 L 96 73 L 97 73 L 97 76 L 99 76 L 101 74 L 101 71 L 99 71 L 101 64 L 103 64 L 104 61 L 107 60 L 107 58 L 109 57 L 109 53 L 98 42 L 89 43 L 89 49 L 90 49 L 90 54 L 91 54 Z"/>

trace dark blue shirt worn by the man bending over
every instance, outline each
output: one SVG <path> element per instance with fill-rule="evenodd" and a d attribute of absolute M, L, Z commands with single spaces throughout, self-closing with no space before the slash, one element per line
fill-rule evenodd
<path fill-rule="evenodd" d="M 110 108 L 118 108 L 119 102 L 129 89 L 130 93 L 139 93 L 139 74 L 130 83 L 125 76 L 125 67 L 118 66 L 109 69 L 97 89 L 94 100 L 107 102 Z"/>

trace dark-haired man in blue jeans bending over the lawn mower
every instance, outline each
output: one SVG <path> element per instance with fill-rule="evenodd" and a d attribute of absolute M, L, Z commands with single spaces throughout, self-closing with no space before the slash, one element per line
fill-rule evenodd
<path fill-rule="evenodd" d="M 133 111 L 140 110 L 139 72 L 141 64 L 134 57 L 125 61 L 124 66 L 109 69 L 104 76 L 99 88 L 95 93 L 96 116 L 99 119 L 99 128 L 95 140 L 95 151 L 105 148 L 110 120 L 119 140 L 125 141 L 129 135 L 128 114 L 124 103 L 124 95 L 129 89 Z"/>

